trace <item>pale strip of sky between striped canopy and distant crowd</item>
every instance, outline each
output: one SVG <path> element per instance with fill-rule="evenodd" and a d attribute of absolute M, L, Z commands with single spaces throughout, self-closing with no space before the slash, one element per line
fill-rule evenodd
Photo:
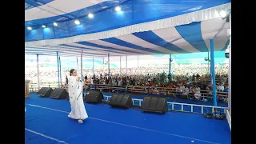
<path fill-rule="evenodd" d="M 208 57 L 208 53 L 193 53 L 193 54 L 172 54 L 171 58 L 173 59 L 172 63 L 177 64 L 207 64 L 205 58 Z M 140 55 L 140 56 L 127 56 L 128 62 L 127 67 L 137 67 L 137 66 L 148 66 L 148 65 L 161 65 L 168 64 L 169 65 L 169 54 L 156 54 L 156 55 Z M 47 56 L 47 55 L 39 55 L 39 66 L 43 67 L 57 67 L 57 57 L 56 56 Z M 75 57 L 61 57 L 61 66 L 63 69 L 76 68 L 80 66 L 80 58 Z M 94 65 L 93 65 L 94 61 Z M 224 51 L 214 52 L 214 61 L 215 64 L 222 65 L 223 63 L 228 63 L 228 58 L 225 58 Z M 37 57 L 35 54 L 25 54 L 25 65 L 26 66 L 36 66 L 37 65 Z M 84 68 L 94 68 L 103 66 L 107 67 L 107 57 L 106 58 L 92 58 L 87 59 L 83 58 L 82 66 Z M 126 67 L 126 57 L 121 57 L 121 66 Z M 120 67 L 120 57 L 110 57 L 110 67 Z"/>

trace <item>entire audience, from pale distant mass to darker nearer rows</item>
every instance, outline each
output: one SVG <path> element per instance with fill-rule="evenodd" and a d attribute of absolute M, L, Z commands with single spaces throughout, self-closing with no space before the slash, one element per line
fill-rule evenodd
<path fill-rule="evenodd" d="M 215 66 L 217 94 L 227 95 L 227 65 Z M 66 78 L 69 76 L 70 70 L 62 70 L 62 86 L 67 84 Z M 171 66 L 172 74 L 169 75 L 169 65 L 134 68 L 110 68 L 110 75 L 107 68 L 99 68 L 94 71 L 91 69 L 82 70 L 82 79 L 86 85 L 112 85 L 112 86 L 147 86 L 153 94 L 172 95 L 174 97 L 182 97 L 186 95 L 187 99 L 196 99 L 206 101 L 204 96 L 211 96 L 213 89 L 210 82 L 210 70 L 208 65 L 173 65 Z M 94 74 L 93 74 L 94 73 Z M 81 72 L 78 70 L 78 75 Z M 37 83 L 37 70 L 26 70 L 26 78 L 31 83 Z M 40 84 L 50 84 L 58 82 L 58 71 L 46 69 L 39 71 Z M 161 92 L 163 88 L 172 88 L 175 94 L 170 91 Z M 222 93 L 224 92 L 224 93 Z M 227 102 L 227 97 L 220 96 L 221 102 Z"/>

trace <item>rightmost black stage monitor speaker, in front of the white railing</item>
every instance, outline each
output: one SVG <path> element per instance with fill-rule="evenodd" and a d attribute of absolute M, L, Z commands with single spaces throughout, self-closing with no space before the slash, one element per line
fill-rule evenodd
<path fill-rule="evenodd" d="M 142 111 L 165 114 L 168 110 L 166 98 L 145 97 L 142 103 Z"/>

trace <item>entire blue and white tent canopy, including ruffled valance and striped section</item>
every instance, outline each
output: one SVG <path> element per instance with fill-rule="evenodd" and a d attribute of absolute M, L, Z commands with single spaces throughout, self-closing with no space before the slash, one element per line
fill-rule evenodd
<path fill-rule="evenodd" d="M 210 50 L 210 39 L 225 50 L 229 22 L 213 12 L 223 8 L 230 0 L 26 0 L 25 54 L 185 54 Z"/>

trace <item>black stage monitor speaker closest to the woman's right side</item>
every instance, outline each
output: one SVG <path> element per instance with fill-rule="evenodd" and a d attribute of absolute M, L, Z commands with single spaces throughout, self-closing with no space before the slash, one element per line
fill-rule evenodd
<path fill-rule="evenodd" d="M 88 91 L 84 102 L 93 102 L 93 103 L 100 103 L 104 99 L 102 93 L 100 91 Z"/>

